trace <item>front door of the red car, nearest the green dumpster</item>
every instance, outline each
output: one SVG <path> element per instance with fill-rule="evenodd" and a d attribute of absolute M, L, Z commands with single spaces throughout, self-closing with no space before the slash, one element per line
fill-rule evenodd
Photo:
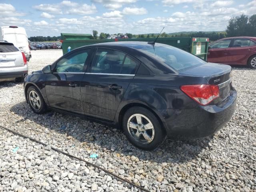
<path fill-rule="evenodd" d="M 209 46 L 207 61 L 228 64 L 229 47 L 233 39 L 224 39 Z"/>

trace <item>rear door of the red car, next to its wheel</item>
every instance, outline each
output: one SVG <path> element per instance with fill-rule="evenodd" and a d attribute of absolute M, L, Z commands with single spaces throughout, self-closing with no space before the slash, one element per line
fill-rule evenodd
<path fill-rule="evenodd" d="M 233 65 L 246 65 L 248 58 L 254 51 L 250 46 L 256 43 L 248 38 L 235 38 L 232 47 L 229 48 L 229 63 Z"/>

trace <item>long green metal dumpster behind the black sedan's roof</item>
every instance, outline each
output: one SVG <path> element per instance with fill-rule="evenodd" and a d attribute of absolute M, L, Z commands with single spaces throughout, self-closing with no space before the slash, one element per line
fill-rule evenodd
<path fill-rule="evenodd" d="M 89 39 L 82 34 L 61 34 L 62 52 L 68 52 L 68 47 L 71 50 L 96 43 L 114 42 L 114 41 L 145 41 L 153 42 L 156 38 L 126 38 L 126 39 Z M 80 37 L 81 36 L 81 37 Z M 80 37 L 80 38 L 79 38 Z M 156 40 L 157 43 L 171 45 L 187 52 L 190 52 L 204 60 L 207 60 L 209 38 L 192 38 L 192 37 L 160 37 Z"/>

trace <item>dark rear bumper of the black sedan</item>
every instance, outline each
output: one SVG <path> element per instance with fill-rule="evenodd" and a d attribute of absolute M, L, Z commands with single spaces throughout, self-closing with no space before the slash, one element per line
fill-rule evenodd
<path fill-rule="evenodd" d="M 236 90 L 222 106 L 197 106 L 193 109 L 158 110 L 163 117 L 167 137 L 172 140 L 203 138 L 219 131 L 236 109 Z"/>

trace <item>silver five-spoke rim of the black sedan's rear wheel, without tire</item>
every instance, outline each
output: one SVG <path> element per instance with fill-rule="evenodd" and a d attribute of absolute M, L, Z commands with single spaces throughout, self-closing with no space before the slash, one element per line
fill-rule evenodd
<path fill-rule="evenodd" d="M 141 144 L 149 144 L 155 136 L 152 122 L 142 114 L 130 116 L 127 123 L 129 134 Z"/>

